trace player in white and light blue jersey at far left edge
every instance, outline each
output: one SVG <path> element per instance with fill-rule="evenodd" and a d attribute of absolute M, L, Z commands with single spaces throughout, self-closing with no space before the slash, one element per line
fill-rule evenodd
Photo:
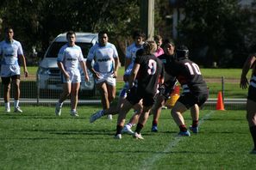
<path fill-rule="evenodd" d="M 26 65 L 26 59 L 23 55 L 22 45 L 19 41 L 13 39 L 14 31 L 11 27 L 5 29 L 6 39 L 0 43 L 0 57 L 1 61 L 1 78 L 3 82 L 3 99 L 5 104 L 5 112 L 10 112 L 9 107 L 9 90 L 10 80 L 14 87 L 14 112 L 22 112 L 19 107 L 20 99 L 20 82 L 21 82 L 21 69 L 18 64 L 18 58 L 20 58 L 24 76 L 28 76 L 28 70 Z"/>

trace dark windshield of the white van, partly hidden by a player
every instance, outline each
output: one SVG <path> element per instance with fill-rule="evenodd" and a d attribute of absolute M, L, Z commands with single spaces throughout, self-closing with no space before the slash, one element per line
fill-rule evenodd
<path fill-rule="evenodd" d="M 47 58 L 57 58 L 59 49 L 61 48 L 61 46 L 64 46 L 65 44 L 66 44 L 66 42 L 53 42 L 52 46 L 50 46 L 50 49 L 47 52 L 46 57 Z M 81 47 L 84 58 L 87 58 L 88 52 L 89 52 L 92 44 L 76 42 L 76 45 Z"/>

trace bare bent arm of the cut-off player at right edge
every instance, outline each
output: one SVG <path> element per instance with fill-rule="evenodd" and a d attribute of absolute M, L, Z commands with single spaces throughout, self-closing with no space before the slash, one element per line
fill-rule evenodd
<path fill-rule="evenodd" d="M 255 60 L 256 60 L 255 54 L 247 58 L 247 61 L 243 66 L 242 73 L 240 76 L 240 88 L 243 88 L 243 89 L 247 88 L 247 85 L 249 83 L 247 80 L 247 73 L 250 70 L 250 68 L 253 66 L 253 63 L 255 62 Z"/>

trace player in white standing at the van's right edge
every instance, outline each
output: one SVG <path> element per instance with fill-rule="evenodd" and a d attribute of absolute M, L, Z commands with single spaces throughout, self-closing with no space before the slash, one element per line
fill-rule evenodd
<path fill-rule="evenodd" d="M 116 97 L 116 76 L 119 65 L 116 46 L 109 43 L 108 33 L 98 33 L 98 43 L 91 47 L 86 65 L 95 77 L 97 89 L 101 94 L 103 110 L 109 109 L 110 103 Z M 91 63 L 94 61 L 94 65 Z M 112 116 L 109 115 L 109 119 Z"/>

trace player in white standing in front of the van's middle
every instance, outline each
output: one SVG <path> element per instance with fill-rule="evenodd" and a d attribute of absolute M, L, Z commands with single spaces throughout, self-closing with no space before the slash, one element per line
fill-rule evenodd
<path fill-rule="evenodd" d="M 57 116 L 60 116 L 63 101 L 66 100 L 67 96 L 71 95 L 70 114 L 77 117 L 78 90 L 80 88 L 81 82 L 81 75 L 78 64 L 80 64 L 84 71 L 85 81 L 89 80 L 89 76 L 87 74 L 86 66 L 84 63 L 82 50 L 75 44 L 76 33 L 72 31 L 67 32 L 66 39 L 68 43 L 60 48 L 57 58 L 57 64 L 62 76 L 63 92 L 59 96 L 59 101 L 56 104 L 55 113 Z"/>

